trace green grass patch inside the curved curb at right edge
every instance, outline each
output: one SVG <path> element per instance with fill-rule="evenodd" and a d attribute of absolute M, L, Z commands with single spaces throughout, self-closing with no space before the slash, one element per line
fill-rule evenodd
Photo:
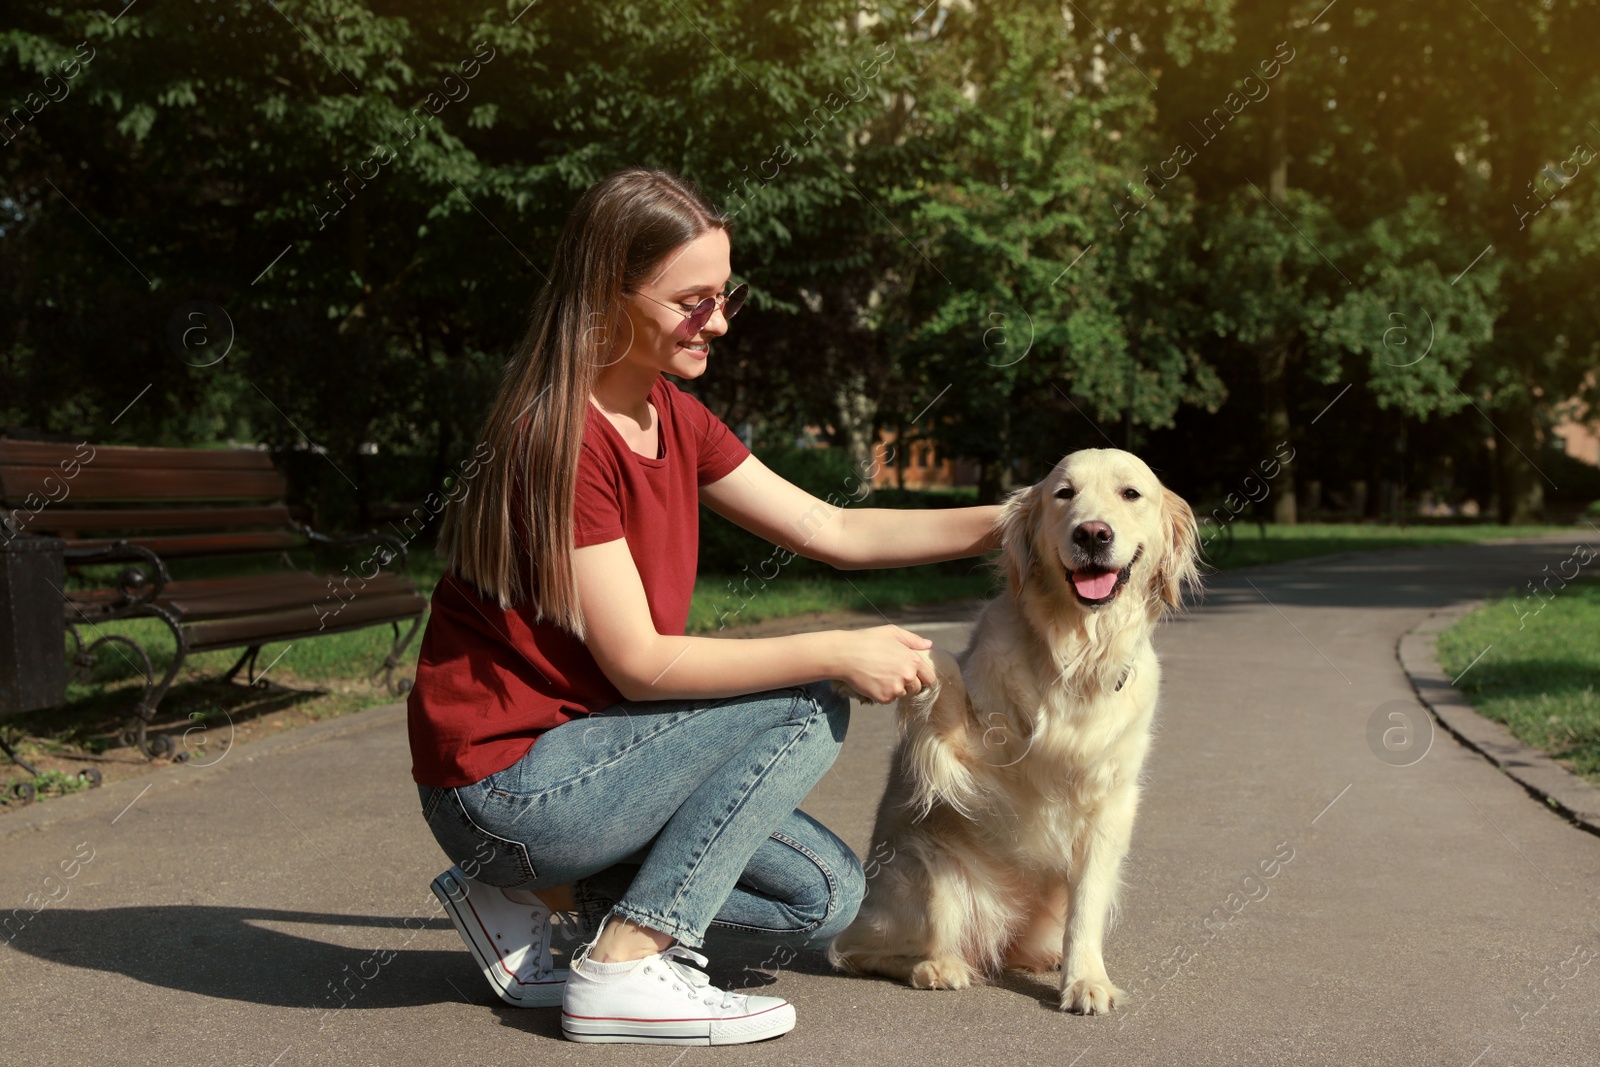
<path fill-rule="evenodd" d="M 1440 633 L 1438 662 L 1478 712 L 1600 785 L 1600 579 L 1550 589 L 1462 616 Z"/>

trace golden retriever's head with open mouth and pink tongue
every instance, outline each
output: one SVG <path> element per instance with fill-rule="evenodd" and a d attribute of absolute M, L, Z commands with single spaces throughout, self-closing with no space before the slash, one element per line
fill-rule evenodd
<path fill-rule="evenodd" d="M 1126 595 L 1152 613 L 1200 584 L 1194 512 L 1142 459 L 1115 448 L 1075 451 L 1000 514 L 1002 565 L 1019 597 L 1029 581 L 1099 611 Z"/>

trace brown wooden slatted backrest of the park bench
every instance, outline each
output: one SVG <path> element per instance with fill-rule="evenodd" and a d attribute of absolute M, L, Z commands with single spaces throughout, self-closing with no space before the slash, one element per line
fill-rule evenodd
<path fill-rule="evenodd" d="M 286 488 L 262 451 L 0 438 L 0 537 L 125 539 L 163 557 L 299 547 Z"/>

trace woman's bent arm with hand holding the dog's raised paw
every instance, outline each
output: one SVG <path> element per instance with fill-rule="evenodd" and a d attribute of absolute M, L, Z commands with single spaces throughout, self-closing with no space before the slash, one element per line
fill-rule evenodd
<path fill-rule="evenodd" d="M 898 625 L 734 640 L 656 633 L 638 568 L 621 537 L 573 552 L 584 643 L 630 701 L 738 696 L 819 678 L 886 704 L 936 680 L 933 641 Z"/>

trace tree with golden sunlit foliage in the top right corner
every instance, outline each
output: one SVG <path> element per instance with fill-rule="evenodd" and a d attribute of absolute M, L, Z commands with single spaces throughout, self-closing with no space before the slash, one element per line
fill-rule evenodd
<path fill-rule="evenodd" d="M 1160 122 L 1203 139 L 1187 170 L 1216 328 L 1234 352 L 1219 366 L 1235 392 L 1243 374 L 1256 379 L 1262 443 L 1320 418 L 1317 384 L 1363 386 L 1336 418 L 1392 410 L 1402 435 L 1406 421 L 1477 405 L 1483 416 L 1470 418 L 1502 442 L 1502 518 L 1531 518 L 1539 424 L 1584 389 L 1595 333 L 1571 290 L 1525 278 L 1539 262 L 1571 270 L 1562 282 L 1594 277 L 1592 245 L 1566 229 L 1594 194 L 1565 179 L 1568 206 L 1546 230 L 1518 229 L 1509 205 L 1550 158 L 1536 146 L 1571 142 L 1595 99 L 1594 66 L 1571 42 L 1600 29 L 1597 5 L 1238 3 L 1232 29 L 1230 48 L 1173 69 Z M 1280 69 L 1266 78 L 1272 67 L 1258 64 L 1251 83 L 1243 56 Z M 1546 66 L 1562 99 L 1536 72 Z M 1416 344 L 1402 354 L 1406 338 Z M 1424 338 L 1434 347 L 1418 360 Z M 1344 462 L 1318 453 L 1307 462 Z M 1294 514 L 1293 477 L 1278 518 Z"/>

